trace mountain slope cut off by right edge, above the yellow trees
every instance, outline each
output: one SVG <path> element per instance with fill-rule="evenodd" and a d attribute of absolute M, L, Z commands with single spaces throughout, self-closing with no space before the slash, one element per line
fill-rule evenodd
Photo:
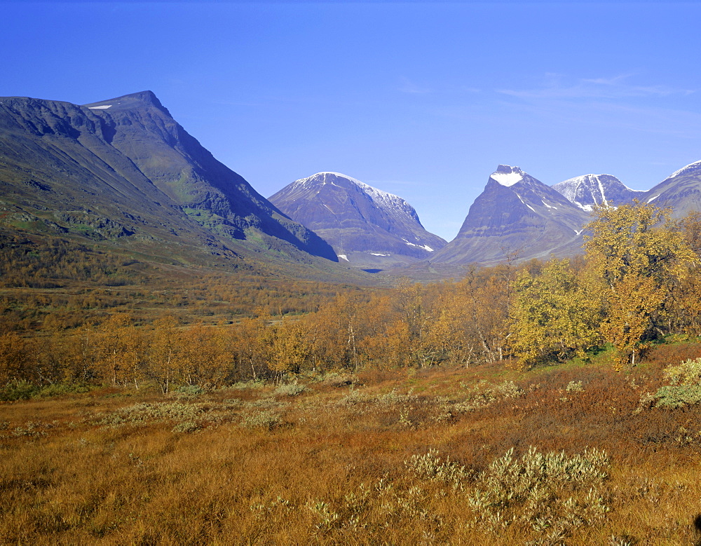
<path fill-rule="evenodd" d="M 654 202 L 659 207 L 672 207 L 674 218 L 701 211 L 701 161 L 673 172 L 660 184 L 646 191 L 641 201 Z"/>

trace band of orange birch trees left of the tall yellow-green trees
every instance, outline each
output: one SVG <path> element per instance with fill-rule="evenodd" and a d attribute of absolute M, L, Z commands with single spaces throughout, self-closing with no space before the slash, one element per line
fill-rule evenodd
<path fill-rule="evenodd" d="M 283 373 L 498 360 L 508 313 L 508 266 L 459 282 L 411 282 L 346 292 L 315 313 L 273 318 L 261 309 L 233 325 L 183 326 L 175 315 L 137 326 L 127 313 L 50 335 L 0 336 L 0 384 L 60 381 L 217 387 Z"/>

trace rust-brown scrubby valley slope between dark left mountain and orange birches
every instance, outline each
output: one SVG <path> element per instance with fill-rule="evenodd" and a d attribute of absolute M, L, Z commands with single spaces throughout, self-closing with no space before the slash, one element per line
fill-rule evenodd
<path fill-rule="evenodd" d="M 149 325 L 172 312 L 184 324 L 311 313 L 351 285 L 276 278 L 250 271 L 172 266 L 105 252 L 60 238 L 0 230 L 0 332 L 28 335 L 74 329 L 128 313 Z"/>

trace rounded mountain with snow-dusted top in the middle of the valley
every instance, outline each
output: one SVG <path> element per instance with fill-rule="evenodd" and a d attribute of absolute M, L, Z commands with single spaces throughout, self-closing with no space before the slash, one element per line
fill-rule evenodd
<path fill-rule="evenodd" d="M 446 244 L 423 228 L 404 199 L 338 172 L 296 180 L 269 199 L 353 266 L 420 261 Z"/>

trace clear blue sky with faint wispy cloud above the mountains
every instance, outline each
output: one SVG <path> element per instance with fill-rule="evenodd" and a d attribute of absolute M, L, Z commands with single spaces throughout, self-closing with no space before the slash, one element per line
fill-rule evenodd
<path fill-rule="evenodd" d="M 701 159 L 701 4 L 0 1 L 0 95 L 150 89 L 268 197 L 330 170 L 450 240 L 499 163 L 649 189 Z"/>

